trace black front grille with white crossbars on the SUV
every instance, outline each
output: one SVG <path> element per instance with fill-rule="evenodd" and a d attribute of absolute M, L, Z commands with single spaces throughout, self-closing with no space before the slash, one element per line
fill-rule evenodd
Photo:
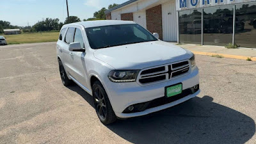
<path fill-rule="evenodd" d="M 189 61 L 179 61 L 141 70 L 138 83 L 141 85 L 168 81 L 172 78 L 184 76 L 189 73 Z"/>

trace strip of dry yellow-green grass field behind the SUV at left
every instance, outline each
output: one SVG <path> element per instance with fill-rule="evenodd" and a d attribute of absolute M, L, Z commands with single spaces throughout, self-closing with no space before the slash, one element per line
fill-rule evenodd
<path fill-rule="evenodd" d="M 59 33 L 24 33 L 19 35 L 4 35 L 7 44 L 28 44 L 37 42 L 57 42 Z"/>

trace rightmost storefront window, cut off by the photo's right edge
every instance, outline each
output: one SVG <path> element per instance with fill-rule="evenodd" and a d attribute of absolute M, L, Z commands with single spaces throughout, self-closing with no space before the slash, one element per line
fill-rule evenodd
<path fill-rule="evenodd" d="M 256 47 L 256 3 L 236 5 L 235 42 L 241 47 Z"/>

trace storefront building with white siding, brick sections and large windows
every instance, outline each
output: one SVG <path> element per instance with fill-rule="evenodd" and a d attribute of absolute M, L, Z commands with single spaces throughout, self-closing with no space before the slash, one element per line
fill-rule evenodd
<path fill-rule="evenodd" d="M 129 0 L 105 13 L 164 41 L 256 47 L 256 0 Z"/>

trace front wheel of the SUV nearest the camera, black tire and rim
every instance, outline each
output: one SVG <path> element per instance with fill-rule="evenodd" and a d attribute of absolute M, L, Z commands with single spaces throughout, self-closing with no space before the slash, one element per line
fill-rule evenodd
<path fill-rule="evenodd" d="M 116 121 L 116 115 L 108 99 L 108 95 L 104 90 L 100 81 L 95 81 L 92 86 L 93 104 L 100 122 L 104 125 L 111 124 Z"/>

